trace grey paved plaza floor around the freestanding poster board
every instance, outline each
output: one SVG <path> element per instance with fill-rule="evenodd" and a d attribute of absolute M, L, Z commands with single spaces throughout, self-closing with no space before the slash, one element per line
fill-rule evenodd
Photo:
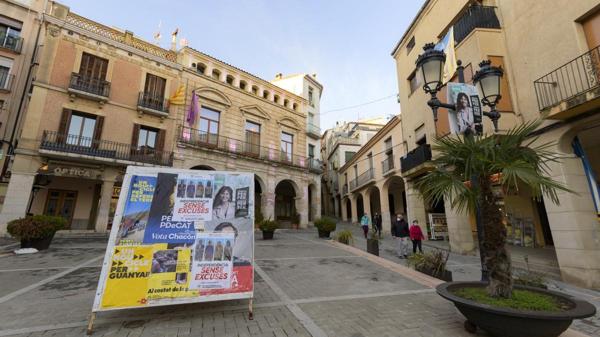
<path fill-rule="evenodd" d="M 254 320 L 248 300 L 105 311 L 93 336 L 472 336 L 427 282 L 318 239 L 314 228 L 256 237 Z M 0 254 L 0 336 L 85 335 L 106 242 L 55 237 L 47 251 Z M 359 239 L 356 247 L 364 246 Z M 14 248 L 15 240 L 0 238 L 0 252 Z M 386 257 L 389 242 L 383 248 L 398 262 Z M 126 327 L 132 321 L 140 326 Z"/>

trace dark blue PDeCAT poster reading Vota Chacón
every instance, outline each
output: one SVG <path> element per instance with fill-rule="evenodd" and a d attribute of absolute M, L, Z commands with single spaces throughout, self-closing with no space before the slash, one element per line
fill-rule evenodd
<path fill-rule="evenodd" d="M 194 243 L 194 222 L 178 221 L 173 217 L 177 181 L 177 174 L 157 174 L 144 243 Z"/>

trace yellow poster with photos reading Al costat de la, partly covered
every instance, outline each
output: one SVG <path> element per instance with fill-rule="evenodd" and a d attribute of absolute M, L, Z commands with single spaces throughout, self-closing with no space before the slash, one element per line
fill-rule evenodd
<path fill-rule="evenodd" d="M 148 278 L 148 299 L 197 296 L 189 291 L 191 249 L 164 249 L 154 245 L 152 268 Z"/>

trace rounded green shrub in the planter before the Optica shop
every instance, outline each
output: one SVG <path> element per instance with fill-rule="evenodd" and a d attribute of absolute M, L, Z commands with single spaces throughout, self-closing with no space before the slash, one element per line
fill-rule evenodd
<path fill-rule="evenodd" d="M 60 216 L 36 214 L 8 222 L 6 231 L 20 240 L 41 239 L 67 226 Z"/>

